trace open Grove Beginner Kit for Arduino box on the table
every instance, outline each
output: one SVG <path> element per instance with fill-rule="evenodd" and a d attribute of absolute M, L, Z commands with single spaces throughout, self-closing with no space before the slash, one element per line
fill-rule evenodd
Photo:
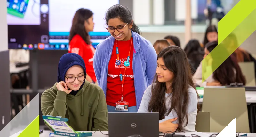
<path fill-rule="evenodd" d="M 68 136 L 68 137 L 88 137 L 92 136 L 92 132 L 78 132 L 68 125 L 67 118 L 60 116 L 43 116 L 45 123 L 47 123 L 53 130 L 54 135 Z"/>

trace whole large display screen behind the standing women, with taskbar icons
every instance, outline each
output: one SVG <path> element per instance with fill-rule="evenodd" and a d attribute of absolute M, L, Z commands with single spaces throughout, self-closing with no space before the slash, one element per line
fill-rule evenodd
<path fill-rule="evenodd" d="M 96 46 L 108 36 L 105 13 L 119 0 L 7 0 L 9 49 L 68 49 L 68 36 L 75 12 L 90 9 Z"/>

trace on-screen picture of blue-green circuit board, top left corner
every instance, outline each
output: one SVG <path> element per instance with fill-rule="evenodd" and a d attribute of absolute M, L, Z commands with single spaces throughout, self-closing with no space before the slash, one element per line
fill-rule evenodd
<path fill-rule="evenodd" d="M 8 25 L 40 25 L 40 0 L 7 0 Z"/>

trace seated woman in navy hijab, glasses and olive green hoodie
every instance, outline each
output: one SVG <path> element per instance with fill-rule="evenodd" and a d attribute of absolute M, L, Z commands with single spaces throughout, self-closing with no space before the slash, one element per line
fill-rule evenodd
<path fill-rule="evenodd" d="M 43 115 L 68 118 L 67 123 L 75 131 L 108 131 L 103 90 L 85 78 L 83 58 L 75 53 L 64 54 L 58 65 L 57 83 L 41 96 L 41 111 Z"/>

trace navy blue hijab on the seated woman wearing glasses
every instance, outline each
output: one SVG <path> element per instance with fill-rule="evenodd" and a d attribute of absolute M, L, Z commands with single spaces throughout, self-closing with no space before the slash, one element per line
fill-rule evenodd
<path fill-rule="evenodd" d="M 71 68 L 74 65 L 79 65 L 84 69 L 84 75 L 86 77 L 86 69 L 85 69 L 85 63 L 83 58 L 75 53 L 67 53 L 64 54 L 59 61 L 59 65 L 58 65 L 58 78 L 57 78 L 57 82 L 61 82 L 64 81 L 65 82 L 65 75 L 66 72 L 68 71 L 69 68 Z M 83 82 L 83 84 L 81 85 L 81 87 L 79 88 L 82 89 L 83 85 L 85 83 L 85 80 Z M 76 93 L 79 91 L 72 91 L 69 94 L 72 95 L 76 95 Z"/>

